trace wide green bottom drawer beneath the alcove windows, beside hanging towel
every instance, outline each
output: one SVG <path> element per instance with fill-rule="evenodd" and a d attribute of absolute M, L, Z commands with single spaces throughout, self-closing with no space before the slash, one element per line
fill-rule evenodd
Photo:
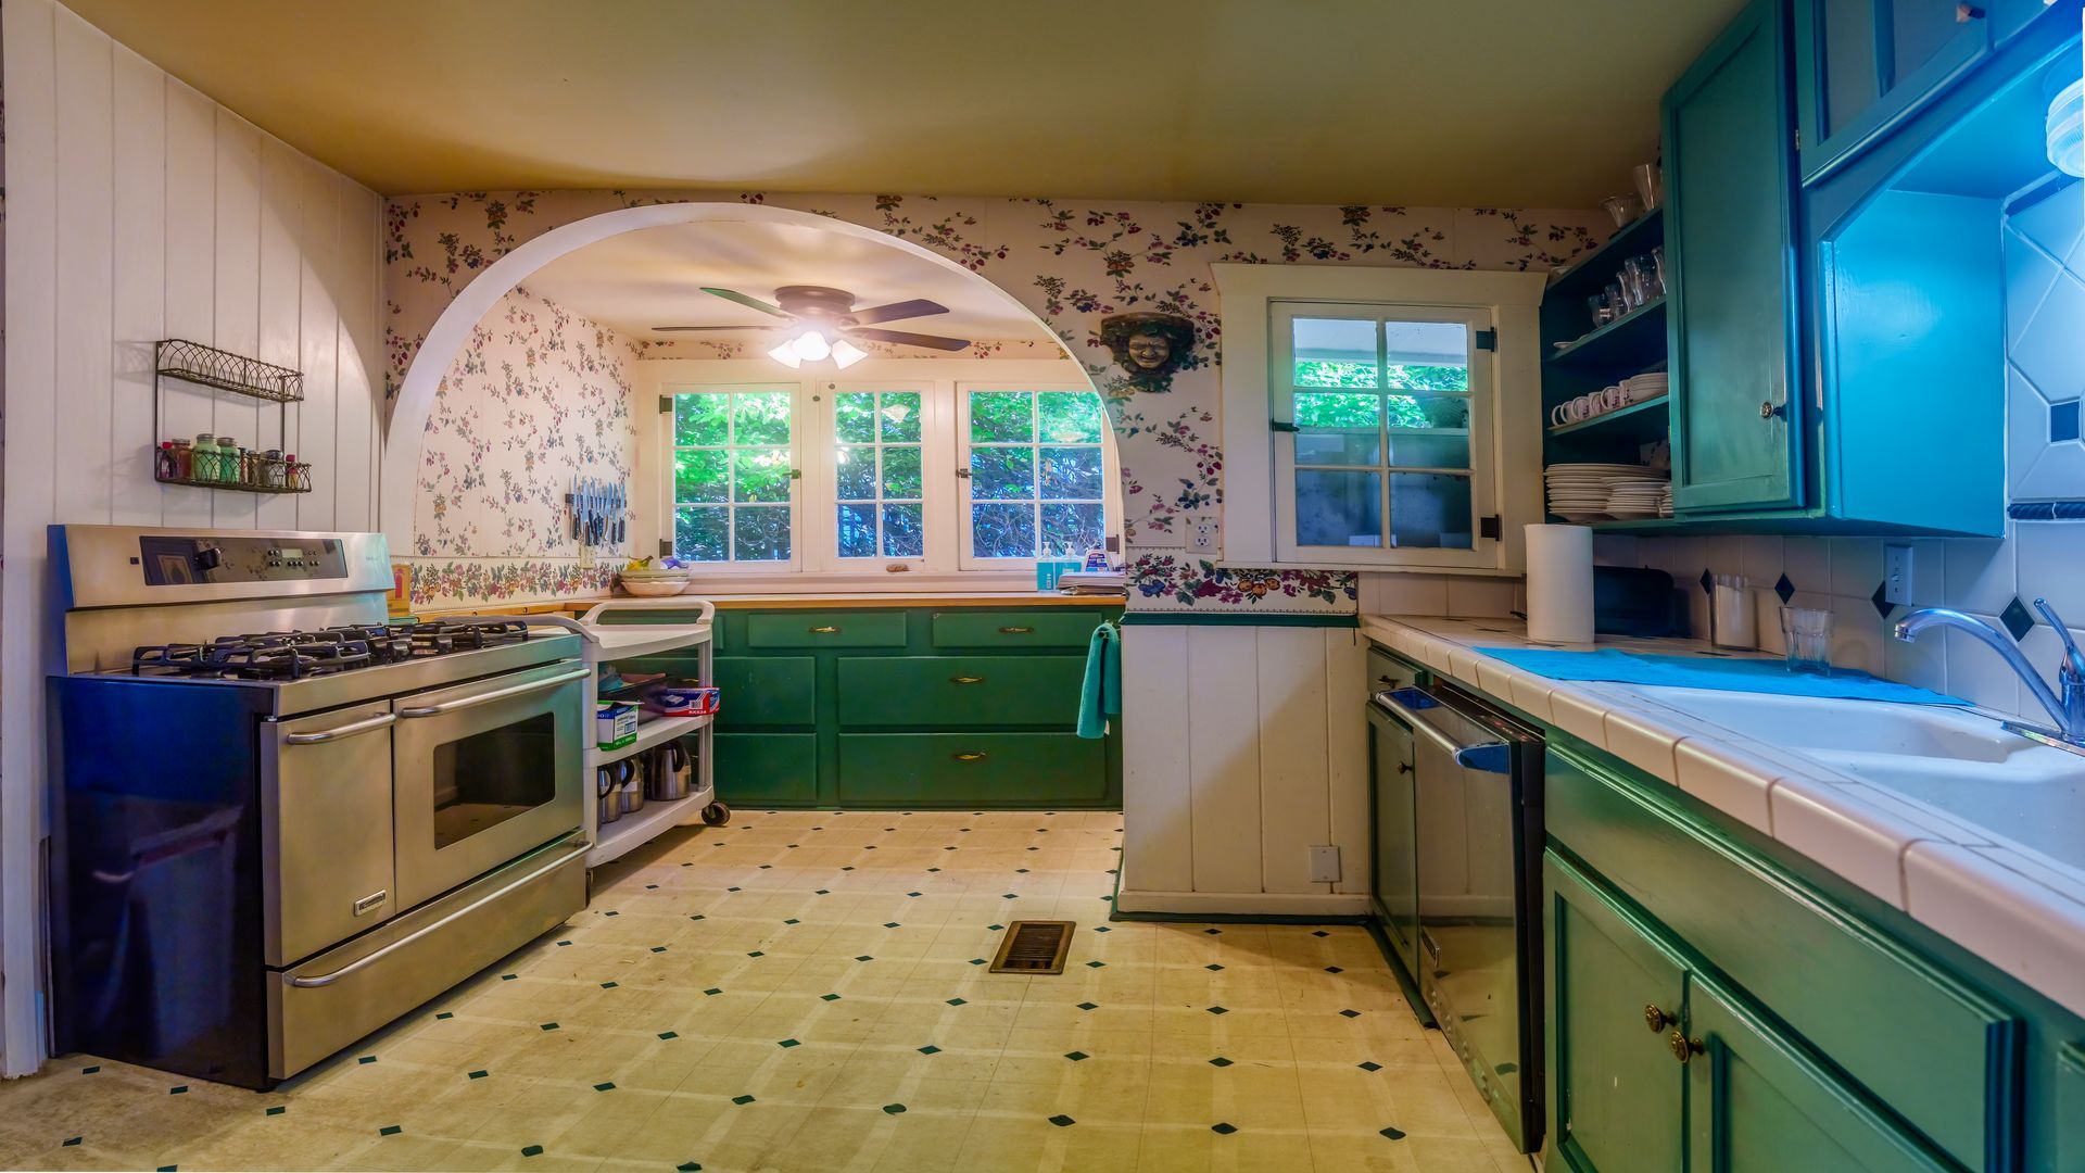
<path fill-rule="evenodd" d="M 840 806 L 1101 801 L 1105 747 L 1076 733 L 842 733 Z"/>

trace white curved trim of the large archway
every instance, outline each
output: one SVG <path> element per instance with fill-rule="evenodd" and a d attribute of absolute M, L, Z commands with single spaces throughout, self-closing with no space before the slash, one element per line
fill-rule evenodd
<path fill-rule="evenodd" d="M 513 292 L 515 286 L 528 282 L 534 271 L 542 269 L 550 261 L 611 236 L 673 223 L 732 221 L 817 228 L 840 236 L 888 244 L 978 282 L 1009 309 L 1036 319 L 1036 324 L 1042 326 L 1051 338 L 1057 336 L 1057 332 L 1051 330 L 1047 321 L 1036 317 L 1036 313 L 1017 296 L 1001 288 L 997 282 L 942 257 L 940 253 L 874 228 L 807 211 L 742 202 L 669 202 L 617 209 L 567 223 L 563 228 L 553 228 L 550 232 L 515 246 L 463 286 L 457 298 L 448 303 L 442 315 L 427 330 L 427 338 L 419 344 L 419 351 L 413 353 L 413 363 L 407 367 L 404 380 L 398 384 L 398 397 L 392 403 L 390 424 L 384 430 L 386 442 L 379 499 L 382 528 L 390 538 L 392 551 L 404 553 L 413 549 L 413 503 L 419 484 L 421 440 L 427 430 L 427 413 L 434 409 L 434 392 L 440 386 L 442 376 L 448 372 L 450 361 L 455 361 L 457 351 L 469 342 L 471 328 L 477 326 L 477 321 L 490 313 L 502 296 Z M 1061 340 L 1057 344 L 1063 349 Z M 1070 351 L 1065 351 L 1065 357 L 1076 359 Z M 1080 369 L 1084 369 L 1084 365 L 1080 365 Z"/>

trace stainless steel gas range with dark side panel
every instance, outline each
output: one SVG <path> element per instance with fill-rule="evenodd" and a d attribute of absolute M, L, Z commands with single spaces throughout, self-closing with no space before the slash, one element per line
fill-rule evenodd
<path fill-rule="evenodd" d="M 269 1087 L 586 906 L 578 637 L 382 534 L 52 526 L 58 1050 Z"/>

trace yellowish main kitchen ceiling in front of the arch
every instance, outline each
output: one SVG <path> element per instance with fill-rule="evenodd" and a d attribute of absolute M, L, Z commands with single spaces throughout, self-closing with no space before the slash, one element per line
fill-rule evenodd
<path fill-rule="evenodd" d="M 1593 207 L 1743 0 L 65 0 L 386 194 Z"/>

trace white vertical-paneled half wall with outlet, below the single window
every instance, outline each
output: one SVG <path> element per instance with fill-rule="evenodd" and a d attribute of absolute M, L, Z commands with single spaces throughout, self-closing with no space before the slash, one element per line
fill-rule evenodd
<path fill-rule="evenodd" d="M 1122 628 L 1124 912 L 1357 914 L 1368 893 L 1366 639 Z M 1309 849 L 1341 849 L 1311 883 Z"/>

